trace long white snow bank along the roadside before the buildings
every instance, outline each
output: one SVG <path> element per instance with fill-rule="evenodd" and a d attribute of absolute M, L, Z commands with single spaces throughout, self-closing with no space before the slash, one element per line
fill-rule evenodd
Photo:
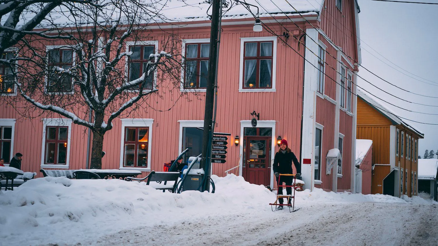
<path fill-rule="evenodd" d="M 268 203 L 275 201 L 276 196 L 264 186 L 250 184 L 234 174 L 213 175 L 212 179 L 215 194 L 163 193 L 145 182 L 118 179 L 44 177 L 29 180 L 14 191 L 0 192 L 0 241 L 5 245 L 84 245 L 138 226 L 172 225 L 255 211 L 271 216 Z M 426 203 L 420 197 L 336 194 L 321 189 L 296 195 L 298 206 L 348 202 Z"/>

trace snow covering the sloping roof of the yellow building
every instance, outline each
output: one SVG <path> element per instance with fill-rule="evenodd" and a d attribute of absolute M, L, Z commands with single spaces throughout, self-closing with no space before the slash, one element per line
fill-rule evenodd
<path fill-rule="evenodd" d="M 376 110 L 384 114 L 386 117 L 391 119 L 393 122 L 395 122 L 397 125 L 404 125 L 405 127 L 409 128 L 413 132 L 416 132 L 421 137 L 424 137 L 424 133 L 419 130 L 416 126 L 414 126 L 412 123 L 407 123 L 405 119 L 400 118 L 401 114 L 395 113 L 393 110 L 390 110 L 386 105 L 385 102 L 378 102 L 377 98 L 373 95 L 370 95 L 368 93 L 365 93 L 363 90 L 357 89 L 357 96 L 365 100 L 367 103 L 371 104 Z"/>

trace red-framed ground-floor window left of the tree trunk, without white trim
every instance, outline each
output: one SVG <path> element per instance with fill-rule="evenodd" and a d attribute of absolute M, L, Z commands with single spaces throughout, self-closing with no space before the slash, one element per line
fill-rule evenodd
<path fill-rule="evenodd" d="M 48 126 L 46 128 L 46 144 L 44 163 L 67 164 L 68 127 Z"/>

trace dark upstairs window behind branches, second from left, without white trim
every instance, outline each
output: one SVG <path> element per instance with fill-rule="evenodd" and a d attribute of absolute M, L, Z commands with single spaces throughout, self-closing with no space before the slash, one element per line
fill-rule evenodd
<path fill-rule="evenodd" d="M 49 75 L 47 79 L 47 92 L 71 92 L 72 76 L 62 73 L 63 69 L 71 70 L 73 66 L 72 49 L 52 49 L 49 51 Z"/>

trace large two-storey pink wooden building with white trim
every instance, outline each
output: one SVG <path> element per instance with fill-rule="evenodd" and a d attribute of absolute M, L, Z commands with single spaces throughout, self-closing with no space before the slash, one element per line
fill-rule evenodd
<path fill-rule="evenodd" d="M 258 5 L 258 1 L 248 2 Z M 226 170 L 239 166 L 232 172 L 251 183 L 275 187 L 271 164 L 281 136 L 302 163 L 305 188 L 353 191 L 359 6 L 355 0 L 290 1 L 297 5 L 295 9 L 286 3 L 277 7 L 267 2 L 263 1 L 267 11 L 260 7 L 260 19 L 279 36 L 266 28 L 253 32 L 254 18 L 240 6 L 223 17 L 215 132 L 230 133 L 231 139 L 226 163 L 212 164 L 212 174 L 224 176 Z M 148 109 L 137 112 L 136 118 L 117 119 L 105 135 L 102 168 L 146 174 L 162 170 L 163 163 L 185 148 L 191 156 L 201 152 L 202 133 L 196 128 L 203 126 L 204 115 L 203 75 L 210 34 L 206 8 L 186 7 L 180 12 L 187 14 L 174 24 L 150 26 L 155 40 L 127 47 L 138 52 L 160 50 L 166 33 L 179 35 L 182 55 L 193 64 L 181 71 L 180 90 L 197 91 L 200 97 L 189 94 L 191 101 L 179 100 L 170 111 Z M 281 35 L 286 29 L 290 37 L 285 43 Z M 48 50 L 69 52 L 56 49 L 61 43 L 47 45 Z M 72 61 L 74 57 L 63 62 Z M 141 66 L 141 62 L 131 59 L 127 67 Z M 16 95 L 14 90 L 2 93 Z M 174 104 L 170 95 L 162 96 L 157 109 Z M 255 128 L 250 122 L 253 111 L 260 114 Z M 25 171 L 87 168 L 90 142 L 86 129 L 69 119 L 51 117 L 21 118 L 11 105 L 2 105 L 2 156 L 11 159 L 15 152 L 23 153 Z M 342 159 L 329 169 L 325 157 L 330 149 L 341 150 Z"/>

